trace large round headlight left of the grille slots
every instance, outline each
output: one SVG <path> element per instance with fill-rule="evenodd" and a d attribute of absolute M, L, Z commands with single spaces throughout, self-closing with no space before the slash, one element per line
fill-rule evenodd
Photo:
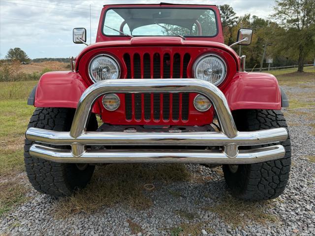
<path fill-rule="evenodd" d="M 100 55 L 91 60 L 89 74 L 94 82 L 118 79 L 120 69 L 117 61 L 108 55 Z"/>

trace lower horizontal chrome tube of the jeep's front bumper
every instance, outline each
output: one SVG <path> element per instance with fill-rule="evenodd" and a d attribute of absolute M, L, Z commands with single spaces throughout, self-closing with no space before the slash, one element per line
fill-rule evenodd
<path fill-rule="evenodd" d="M 252 164 L 283 158 L 282 145 L 240 150 L 236 158 L 229 158 L 222 151 L 209 150 L 102 150 L 86 151 L 74 157 L 70 150 L 32 145 L 34 157 L 64 163 L 199 163 L 199 164 Z"/>

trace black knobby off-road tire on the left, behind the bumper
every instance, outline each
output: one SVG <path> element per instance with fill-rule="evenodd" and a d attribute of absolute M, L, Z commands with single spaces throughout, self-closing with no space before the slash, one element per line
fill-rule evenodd
<path fill-rule="evenodd" d="M 74 113 L 75 109 L 71 108 L 36 108 L 28 128 L 69 131 Z M 91 115 L 88 129 L 97 129 L 94 114 Z M 95 166 L 86 165 L 85 168 L 78 168 L 76 164 L 32 157 L 29 153 L 32 144 L 33 142 L 25 140 L 24 162 L 27 176 L 37 191 L 56 197 L 70 196 L 75 190 L 84 188 L 90 181 Z"/>

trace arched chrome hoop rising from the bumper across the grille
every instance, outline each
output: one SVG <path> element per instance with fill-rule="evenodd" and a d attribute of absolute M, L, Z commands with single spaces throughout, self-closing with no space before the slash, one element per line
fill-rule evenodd
<path fill-rule="evenodd" d="M 197 79 L 119 79 L 97 82 L 83 92 L 72 121 L 71 137 L 78 138 L 86 132 L 92 106 L 99 96 L 122 92 L 196 92 L 202 94 L 212 101 L 222 132 L 229 138 L 237 135 L 237 129 L 224 94 L 207 81 Z"/>

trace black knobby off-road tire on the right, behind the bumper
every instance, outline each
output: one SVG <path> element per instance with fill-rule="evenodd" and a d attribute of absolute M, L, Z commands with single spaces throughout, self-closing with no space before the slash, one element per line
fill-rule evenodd
<path fill-rule="evenodd" d="M 284 127 L 287 124 L 281 111 L 240 110 L 233 113 L 239 131 L 254 131 Z M 285 148 L 284 158 L 256 164 L 223 165 L 224 178 L 232 194 L 242 200 L 268 200 L 284 192 L 291 166 L 290 137 L 280 143 Z M 267 146 L 267 145 L 265 145 Z M 257 148 L 264 146 L 252 146 Z"/>

